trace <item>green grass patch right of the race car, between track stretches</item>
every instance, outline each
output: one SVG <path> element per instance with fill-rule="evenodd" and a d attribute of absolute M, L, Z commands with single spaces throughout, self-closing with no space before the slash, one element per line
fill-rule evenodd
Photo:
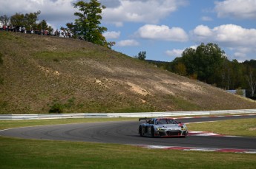
<path fill-rule="evenodd" d="M 210 131 L 216 134 L 256 137 L 256 119 L 225 120 L 218 122 L 191 123 L 190 131 Z"/>

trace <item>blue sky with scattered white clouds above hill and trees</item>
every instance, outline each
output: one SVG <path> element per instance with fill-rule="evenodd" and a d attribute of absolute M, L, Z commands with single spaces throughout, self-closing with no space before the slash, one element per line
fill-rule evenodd
<path fill-rule="evenodd" d="M 0 0 L 0 15 L 41 11 L 55 29 L 76 17 L 77 0 Z M 134 57 L 173 61 L 186 48 L 217 44 L 229 61 L 256 59 L 256 0 L 99 0 L 101 26 L 112 49 Z"/>

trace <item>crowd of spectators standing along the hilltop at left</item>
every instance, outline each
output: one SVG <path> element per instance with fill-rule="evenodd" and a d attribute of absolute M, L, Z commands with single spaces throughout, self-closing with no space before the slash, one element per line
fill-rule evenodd
<path fill-rule="evenodd" d="M 2 27 L 0 27 L 0 30 L 2 31 L 10 31 L 10 32 L 22 32 L 22 33 L 28 33 L 28 34 L 37 34 L 37 35 L 54 35 L 54 36 L 59 36 L 62 38 L 72 38 L 73 37 L 73 33 L 70 32 L 70 30 L 26 30 L 25 27 L 23 26 L 6 26 L 3 25 Z"/>

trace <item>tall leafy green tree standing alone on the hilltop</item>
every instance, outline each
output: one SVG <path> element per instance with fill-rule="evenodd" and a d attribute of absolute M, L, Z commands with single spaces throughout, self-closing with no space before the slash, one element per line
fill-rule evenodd
<path fill-rule="evenodd" d="M 107 31 L 107 28 L 99 26 L 102 19 L 100 14 L 105 6 L 101 6 L 97 0 L 91 0 L 90 2 L 78 1 L 74 7 L 79 9 L 79 12 L 74 13 L 79 18 L 75 20 L 74 24 L 68 24 L 70 30 L 74 31 L 74 35 L 93 44 L 108 46 L 108 42 L 102 35 L 103 32 Z"/>

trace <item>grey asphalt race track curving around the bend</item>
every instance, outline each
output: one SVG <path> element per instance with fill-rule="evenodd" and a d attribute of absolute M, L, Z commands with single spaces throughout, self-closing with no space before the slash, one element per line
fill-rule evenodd
<path fill-rule="evenodd" d="M 215 120 L 234 120 L 256 118 L 252 116 L 208 117 L 178 119 L 182 123 L 194 123 Z M 1 136 L 24 139 L 51 139 L 82 142 L 104 142 L 128 145 L 163 145 L 199 148 L 239 148 L 256 150 L 256 137 L 212 137 L 188 136 L 186 138 L 140 137 L 139 121 L 121 121 L 108 123 L 79 123 L 68 125 L 43 125 L 36 127 L 13 128 L 0 131 Z M 210 125 L 211 123 L 209 123 Z M 189 130 L 189 128 L 188 128 Z"/>

